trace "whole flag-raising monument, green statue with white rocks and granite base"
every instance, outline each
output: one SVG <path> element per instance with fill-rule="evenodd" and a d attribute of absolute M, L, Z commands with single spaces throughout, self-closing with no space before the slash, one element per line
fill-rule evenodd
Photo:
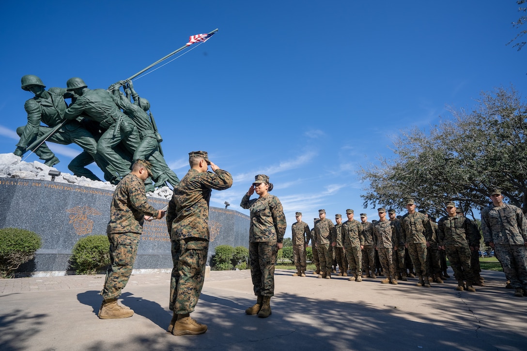
<path fill-rule="evenodd" d="M 19 272 L 65 274 L 80 238 L 105 235 L 113 188 L 137 159 L 152 163 L 151 177 L 145 181 L 149 202 L 158 209 L 167 206 L 172 195 L 168 185 L 177 186 L 179 179 L 164 160 L 150 103 L 135 91 L 132 80 L 191 44 L 202 44 L 217 31 L 190 36 L 186 45 L 107 90 L 91 90 L 79 77 L 69 79 L 66 88 L 46 90 L 40 77 L 22 77 L 22 89 L 34 97 L 25 102 L 27 124 L 16 130 L 20 140 L 15 151 L 0 154 L 0 228 L 34 231 L 42 238 L 42 247 Z M 68 165 L 73 176 L 53 168 L 60 161 L 46 142 L 75 143 L 83 149 Z M 30 153 L 43 162 L 22 161 Z M 86 168 L 93 162 L 106 182 Z M 248 245 L 245 214 L 210 207 L 209 227 L 209 259 L 218 245 Z M 145 221 L 134 270 L 171 268 L 166 221 Z"/>

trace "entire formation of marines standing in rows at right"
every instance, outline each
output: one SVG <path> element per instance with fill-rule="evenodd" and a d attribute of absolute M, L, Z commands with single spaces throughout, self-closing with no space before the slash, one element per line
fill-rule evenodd
<path fill-rule="evenodd" d="M 527 296 L 527 221 L 520 209 L 496 201 L 500 197 L 499 189 L 492 190 L 493 203 L 482 211 L 483 237 L 503 267 L 506 287 L 514 289 L 515 296 Z M 318 278 L 349 274 L 348 280 L 360 282 L 383 276 L 380 282 L 393 285 L 417 278 L 416 286 L 430 287 L 432 282 L 443 284 L 450 278 L 448 259 L 456 290 L 475 292 L 475 286 L 485 286 L 479 261 L 482 235 L 476 223 L 452 201 L 445 203 L 447 216 L 438 222 L 426 211 L 416 211 L 415 206 L 414 200 L 408 199 L 404 216 L 379 208 L 379 219 L 372 222 L 366 213 L 360 213 L 361 221 L 355 220 L 354 211 L 347 209 L 348 220 L 342 223 L 341 214 L 336 214 L 336 225 L 326 219 L 325 210 L 319 210 L 311 230 L 302 221 L 302 213 L 296 212 L 297 221 L 291 227 L 297 269 L 293 276 L 306 276 L 305 248 L 311 242 L 313 273 Z M 507 220 L 501 220 L 500 211 Z"/>

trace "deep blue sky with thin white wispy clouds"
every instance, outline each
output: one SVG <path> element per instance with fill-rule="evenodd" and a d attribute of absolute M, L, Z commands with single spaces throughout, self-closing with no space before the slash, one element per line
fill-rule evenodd
<path fill-rule="evenodd" d="M 401 130 L 472 110 L 481 91 L 527 87 L 515 1 L 2 2 L 0 153 L 26 123 L 25 74 L 47 87 L 74 76 L 106 88 L 181 47 L 192 51 L 134 80 L 150 100 L 163 151 L 181 178 L 188 152 L 206 150 L 231 172 L 211 206 L 241 211 L 259 173 L 270 176 L 290 225 L 364 209 L 356 170 L 391 157 Z M 67 164 L 76 145 L 49 144 Z M 37 160 L 31 155 L 26 161 Z M 92 168 L 95 170 L 95 168 Z M 100 173 L 99 173 L 100 174 Z M 357 216 L 358 217 L 358 216 Z"/>

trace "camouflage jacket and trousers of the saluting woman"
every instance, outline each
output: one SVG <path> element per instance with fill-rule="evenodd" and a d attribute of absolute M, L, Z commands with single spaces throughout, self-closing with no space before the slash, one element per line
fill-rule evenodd
<path fill-rule="evenodd" d="M 271 194 L 250 200 L 245 194 L 240 207 L 249 209 L 249 260 L 251 278 L 256 296 L 275 295 L 275 262 L 277 242 L 282 242 L 286 232 L 286 216 L 280 200 Z"/>

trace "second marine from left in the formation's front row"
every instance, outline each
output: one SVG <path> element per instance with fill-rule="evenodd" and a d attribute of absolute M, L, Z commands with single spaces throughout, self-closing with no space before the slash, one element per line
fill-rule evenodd
<path fill-rule="evenodd" d="M 326 218 L 326 210 L 318 210 L 320 220 L 315 225 L 315 236 L 317 241 L 318 259 L 320 260 L 320 275 L 317 278 L 331 278 L 333 270 L 333 255 L 329 248 L 335 236 L 335 225 Z"/>

